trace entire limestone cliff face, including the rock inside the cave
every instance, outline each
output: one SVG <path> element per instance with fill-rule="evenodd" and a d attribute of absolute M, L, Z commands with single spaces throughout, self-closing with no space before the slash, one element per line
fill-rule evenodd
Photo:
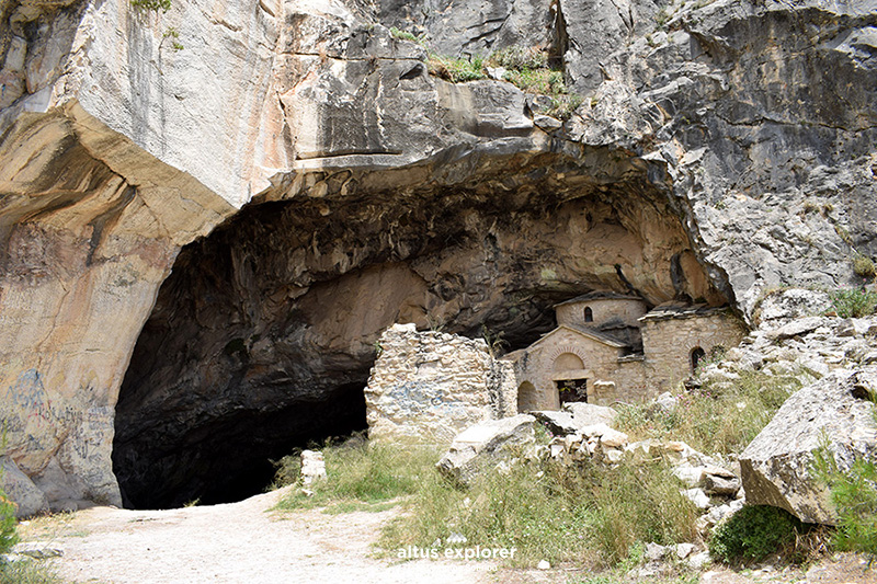
<path fill-rule="evenodd" d="M 748 313 L 877 254 L 873 1 L 0 18 L 0 408 L 36 506 L 118 503 L 111 450 L 129 496 L 169 485 L 138 504 L 173 504 L 356 426 L 396 321 L 525 344 L 594 288 Z M 544 47 L 584 103 L 543 130 L 537 101 L 430 77 L 390 25 Z"/>

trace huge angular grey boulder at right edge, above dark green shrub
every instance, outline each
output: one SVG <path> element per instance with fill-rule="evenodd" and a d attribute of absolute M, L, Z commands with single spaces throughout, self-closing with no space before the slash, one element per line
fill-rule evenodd
<path fill-rule="evenodd" d="M 838 370 L 794 393 L 740 456 L 747 503 L 785 508 L 807 523 L 836 523 L 828 489 L 811 471 L 828 440 L 840 468 L 877 456 L 874 405 L 877 367 Z M 824 438 L 823 438 L 824 437 Z"/>

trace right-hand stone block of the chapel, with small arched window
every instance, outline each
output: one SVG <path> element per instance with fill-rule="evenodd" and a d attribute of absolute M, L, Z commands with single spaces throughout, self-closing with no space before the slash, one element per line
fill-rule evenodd
<path fill-rule="evenodd" d="M 660 393 L 688 377 L 694 348 L 701 347 L 706 354 L 715 347 L 731 348 L 740 344 L 744 334 L 742 323 L 725 311 L 645 318 L 642 345 L 651 391 Z"/>

